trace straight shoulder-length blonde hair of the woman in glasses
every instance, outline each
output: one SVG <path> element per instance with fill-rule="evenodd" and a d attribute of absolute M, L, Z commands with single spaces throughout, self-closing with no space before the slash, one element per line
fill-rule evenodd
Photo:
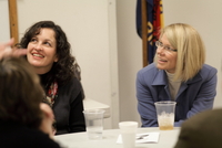
<path fill-rule="evenodd" d="M 174 80 L 186 82 L 194 77 L 205 62 L 205 46 L 199 32 L 189 24 L 174 23 L 161 30 L 160 39 L 163 34 L 178 50 Z"/>

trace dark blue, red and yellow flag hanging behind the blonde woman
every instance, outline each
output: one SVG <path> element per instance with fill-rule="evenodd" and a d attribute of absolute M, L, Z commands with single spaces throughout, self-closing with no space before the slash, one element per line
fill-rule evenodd
<path fill-rule="evenodd" d="M 137 1 L 137 32 L 142 38 L 142 17 L 141 1 Z M 162 0 L 145 0 L 147 1 L 147 28 L 148 28 L 148 54 L 149 63 L 153 62 L 155 55 L 155 41 L 159 39 L 159 30 L 164 27 Z"/>

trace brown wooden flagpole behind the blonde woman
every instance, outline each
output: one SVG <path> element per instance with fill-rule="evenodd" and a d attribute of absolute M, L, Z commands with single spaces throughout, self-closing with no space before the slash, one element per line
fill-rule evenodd
<path fill-rule="evenodd" d="M 141 0 L 141 14 L 142 14 L 142 55 L 143 55 L 143 67 L 149 64 L 149 49 L 148 49 L 148 17 L 147 17 L 147 0 Z"/>

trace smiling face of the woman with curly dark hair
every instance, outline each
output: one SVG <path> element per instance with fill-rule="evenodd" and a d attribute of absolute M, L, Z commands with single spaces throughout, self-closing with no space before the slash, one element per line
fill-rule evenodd
<path fill-rule="evenodd" d="M 40 29 L 39 34 L 33 36 L 29 42 L 27 59 L 28 62 L 34 66 L 38 74 L 49 72 L 57 56 L 57 40 L 52 29 Z"/>

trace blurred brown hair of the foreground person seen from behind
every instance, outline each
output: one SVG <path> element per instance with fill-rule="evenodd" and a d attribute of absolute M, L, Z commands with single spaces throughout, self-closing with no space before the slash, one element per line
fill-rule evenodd
<path fill-rule="evenodd" d="M 39 128 L 43 89 L 32 66 L 23 59 L 0 60 L 0 120 Z"/>

